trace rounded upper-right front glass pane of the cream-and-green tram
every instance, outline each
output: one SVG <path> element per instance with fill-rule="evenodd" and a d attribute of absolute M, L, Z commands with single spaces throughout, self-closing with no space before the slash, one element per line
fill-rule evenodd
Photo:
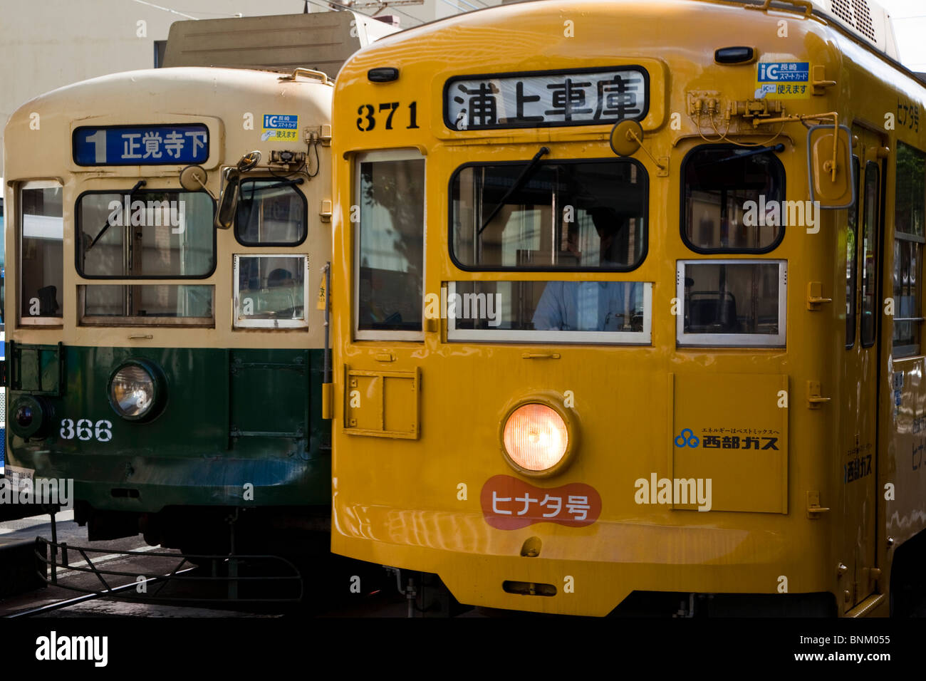
<path fill-rule="evenodd" d="M 306 238 L 306 199 L 292 180 L 243 180 L 235 234 L 245 245 L 294 246 Z"/>

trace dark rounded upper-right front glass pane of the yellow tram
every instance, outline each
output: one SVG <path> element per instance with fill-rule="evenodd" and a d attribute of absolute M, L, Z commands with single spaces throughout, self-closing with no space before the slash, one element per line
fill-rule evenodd
<path fill-rule="evenodd" d="M 683 167 L 682 233 L 688 246 L 759 251 L 777 243 L 788 210 L 782 204 L 784 167 L 774 153 L 702 146 L 685 158 Z"/>

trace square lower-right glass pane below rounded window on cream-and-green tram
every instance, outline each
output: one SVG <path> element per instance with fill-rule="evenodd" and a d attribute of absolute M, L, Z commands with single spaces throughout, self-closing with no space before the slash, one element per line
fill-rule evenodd
<path fill-rule="evenodd" d="M 236 325 L 258 320 L 305 322 L 305 256 L 239 256 L 237 263 Z"/>

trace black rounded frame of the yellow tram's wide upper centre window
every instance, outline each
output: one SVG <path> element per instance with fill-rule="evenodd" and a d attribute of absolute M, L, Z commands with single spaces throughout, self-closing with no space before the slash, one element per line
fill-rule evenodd
<path fill-rule="evenodd" d="M 532 268 L 521 268 L 521 267 L 480 267 L 474 265 L 466 265 L 460 262 L 457 259 L 457 254 L 454 252 L 454 183 L 457 181 L 459 174 L 466 170 L 467 168 L 473 167 L 484 167 L 484 166 L 526 166 L 531 162 L 530 158 L 519 159 L 519 160 L 510 160 L 510 161 L 468 161 L 460 166 L 458 166 L 452 173 L 450 173 L 450 180 L 447 183 L 447 251 L 450 256 L 450 261 L 454 264 L 457 270 L 460 271 L 471 271 L 471 272 L 484 272 L 484 271 L 494 271 L 494 272 L 582 272 L 583 274 L 595 274 L 598 272 L 630 272 L 639 269 L 643 263 L 646 261 L 646 256 L 649 254 L 649 216 L 650 216 L 650 185 L 649 185 L 649 172 L 647 172 L 646 167 L 638 159 L 632 157 L 611 157 L 611 158 L 551 158 L 546 161 L 541 161 L 537 164 L 537 168 L 541 168 L 544 165 L 570 165 L 574 163 L 631 163 L 636 166 L 637 172 L 640 173 L 639 177 L 643 178 L 642 185 L 644 187 L 644 213 L 641 216 L 643 221 L 643 247 L 640 250 L 640 257 L 635 263 L 627 267 L 619 268 L 587 268 L 587 267 L 532 267 Z M 551 211 L 554 216 L 558 215 L 561 207 L 557 207 L 554 203 L 553 210 Z"/>

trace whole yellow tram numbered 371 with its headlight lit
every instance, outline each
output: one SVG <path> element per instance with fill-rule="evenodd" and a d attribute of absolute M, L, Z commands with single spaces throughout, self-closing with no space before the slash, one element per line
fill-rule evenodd
<path fill-rule="evenodd" d="M 926 90 L 895 52 L 874 3 L 563 0 L 348 60 L 332 550 L 505 609 L 903 612 Z"/>

